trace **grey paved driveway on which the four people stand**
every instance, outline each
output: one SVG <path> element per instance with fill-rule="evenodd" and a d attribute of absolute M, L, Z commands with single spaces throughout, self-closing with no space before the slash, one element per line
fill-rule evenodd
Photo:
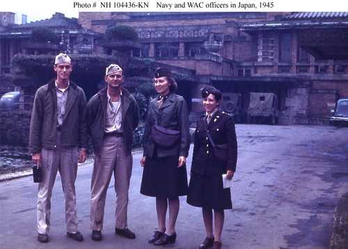
<path fill-rule="evenodd" d="M 238 168 L 232 188 L 234 209 L 226 211 L 223 248 L 327 248 L 333 213 L 348 189 L 348 128 L 237 125 Z M 113 234 L 115 198 L 111 182 L 106 200 L 104 241 L 90 239 L 89 188 L 92 167 L 80 166 L 77 202 L 83 243 L 65 236 L 59 177 L 52 198 L 50 243 L 36 241 L 37 186 L 31 177 L 0 182 L 0 248 L 154 248 L 146 241 L 156 227 L 155 200 L 139 193 L 141 152 L 134 152 L 129 228 L 135 240 Z M 191 158 L 189 158 L 189 163 Z M 200 209 L 181 199 L 177 243 L 197 248 L 205 232 Z"/>

